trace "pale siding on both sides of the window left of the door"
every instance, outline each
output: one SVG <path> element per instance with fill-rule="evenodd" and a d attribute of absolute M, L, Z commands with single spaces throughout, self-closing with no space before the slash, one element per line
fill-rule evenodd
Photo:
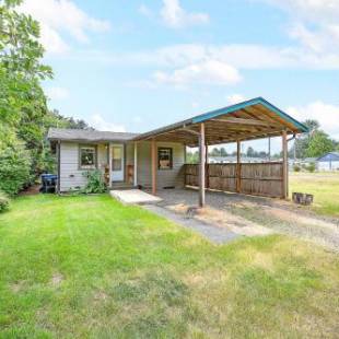
<path fill-rule="evenodd" d="M 107 148 L 105 144 L 97 145 L 97 168 L 104 172 L 107 164 Z M 79 170 L 79 143 L 65 142 L 60 144 L 60 191 L 83 188 L 86 178 L 85 171 Z"/>

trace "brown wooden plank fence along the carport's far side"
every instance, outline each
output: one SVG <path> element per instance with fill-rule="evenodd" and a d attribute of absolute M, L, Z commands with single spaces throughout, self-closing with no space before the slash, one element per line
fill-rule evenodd
<path fill-rule="evenodd" d="M 185 165 L 185 185 L 199 186 L 199 165 Z M 206 188 L 283 198 L 283 163 L 206 165 Z"/>

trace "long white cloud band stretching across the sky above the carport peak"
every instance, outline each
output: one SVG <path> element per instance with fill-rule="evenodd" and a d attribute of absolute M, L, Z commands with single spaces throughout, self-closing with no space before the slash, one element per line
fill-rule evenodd
<path fill-rule="evenodd" d="M 300 47 L 269 47 L 262 45 L 178 44 L 157 49 L 126 54 L 94 51 L 78 55 L 81 60 L 152 67 L 157 71 L 148 80 L 133 80 L 129 85 L 153 89 L 160 83 L 183 87 L 192 83 L 234 84 L 242 70 L 312 69 L 339 70 L 337 54 L 312 52 Z"/>

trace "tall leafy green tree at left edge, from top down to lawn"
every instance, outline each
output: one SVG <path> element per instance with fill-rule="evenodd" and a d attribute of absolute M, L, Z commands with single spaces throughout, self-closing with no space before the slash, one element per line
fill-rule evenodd
<path fill-rule="evenodd" d="M 20 3 L 0 0 L 0 189 L 10 194 L 17 192 L 35 173 L 47 113 L 40 81 L 52 75 L 42 63 L 39 25 L 31 15 L 15 11 Z"/>

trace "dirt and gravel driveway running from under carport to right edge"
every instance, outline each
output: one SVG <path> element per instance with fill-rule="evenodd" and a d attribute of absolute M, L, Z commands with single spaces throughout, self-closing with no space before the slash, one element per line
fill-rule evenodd
<path fill-rule="evenodd" d="M 198 201 L 198 194 L 192 189 L 161 190 L 159 196 L 164 199 L 162 207 L 184 214 Z M 338 219 L 319 217 L 279 199 L 207 191 L 206 201 L 207 208 L 195 215 L 199 221 L 243 235 L 261 231 L 265 234 L 265 230 L 270 230 L 339 250 Z"/>

